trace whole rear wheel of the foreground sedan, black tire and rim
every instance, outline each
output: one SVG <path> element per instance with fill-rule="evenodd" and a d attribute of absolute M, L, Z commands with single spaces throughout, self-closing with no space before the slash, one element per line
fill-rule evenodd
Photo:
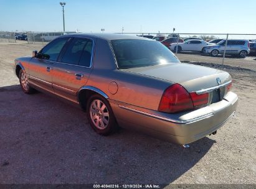
<path fill-rule="evenodd" d="M 88 99 L 86 110 L 88 122 L 95 132 L 108 136 L 116 131 L 115 115 L 107 99 L 100 94 L 93 94 Z"/>

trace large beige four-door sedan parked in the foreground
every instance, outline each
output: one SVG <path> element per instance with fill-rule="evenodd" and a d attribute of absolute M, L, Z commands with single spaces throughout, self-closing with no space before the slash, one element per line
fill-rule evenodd
<path fill-rule="evenodd" d="M 184 145 L 216 134 L 238 101 L 229 73 L 181 63 L 156 40 L 122 34 L 64 35 L 17 58 L 14 70 L 24 93 L 80 105 L 102 135 L 120 126 Z"/>

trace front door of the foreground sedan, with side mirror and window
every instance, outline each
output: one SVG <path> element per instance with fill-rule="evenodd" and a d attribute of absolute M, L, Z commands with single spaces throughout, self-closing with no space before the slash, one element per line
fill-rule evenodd
<path fill-rule="evenodd" d="M 52 65 L 57 61 L 67 40 L 69 40 L 69 37 L 53 40 L 42 48 L 36 57 L 31 59 L 29 62 L 29 82 L 32 85 L 54 92 L 52 88 Z"/>

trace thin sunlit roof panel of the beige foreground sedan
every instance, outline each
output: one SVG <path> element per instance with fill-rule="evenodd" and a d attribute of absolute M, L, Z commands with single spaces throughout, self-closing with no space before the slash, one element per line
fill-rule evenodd
<path fill-rule="evenodd" d="M 95 34 L 86 34 L 86 33 L 75 33 L 75 34 L 68 34 L 68 35 L 62 35 L 62 37 L 94 37 L 94 38 L 100 38 L 105 40 L 118 40 L 118 39 L 140 39 L 140 40 L 151 40 L 146 37 L 139 37 L 136 35 L 126 35 L 126 34 L 108 34 L 108 33 L 95 33 Z"/>

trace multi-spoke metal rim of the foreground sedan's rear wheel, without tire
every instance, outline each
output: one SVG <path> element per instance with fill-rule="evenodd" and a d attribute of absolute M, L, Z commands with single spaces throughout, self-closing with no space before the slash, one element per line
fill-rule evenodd
<path fill-rule="evenodd" d="M 98 129 L 105 129 L 108 126 L 110 120 L 108 108 L 99 99 L 93 100 L 90 104 L 90 118 Z"/>

